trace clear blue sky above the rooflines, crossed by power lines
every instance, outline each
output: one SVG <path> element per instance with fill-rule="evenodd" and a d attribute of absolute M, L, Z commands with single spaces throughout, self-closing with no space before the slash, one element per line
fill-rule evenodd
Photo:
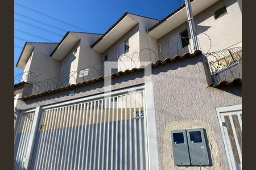
<path fill-rule="evenodd" d="M 163 19 L 182 0 L 15 0 L 14 74 L 25 42 L 59 42 L 67 31 L 104 33 L 126 11 Z"/>

